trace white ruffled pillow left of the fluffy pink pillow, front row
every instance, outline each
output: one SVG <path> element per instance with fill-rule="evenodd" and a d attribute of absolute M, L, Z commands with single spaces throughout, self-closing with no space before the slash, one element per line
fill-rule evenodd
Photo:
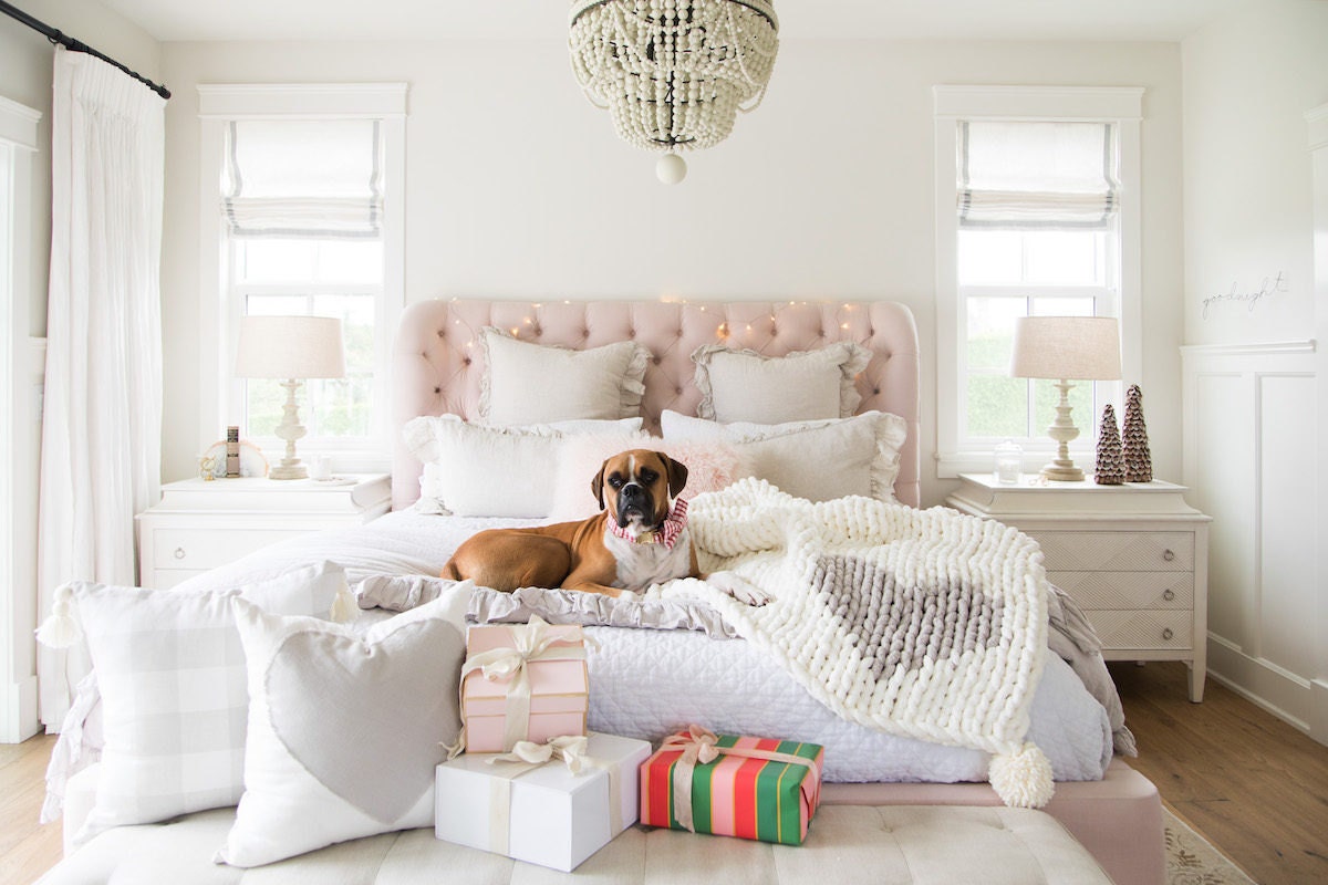
<path fill-rule="evenodd" d="M 416 512 L 527 519 L 554 508 L 554 466 L 567 437 L 648 439 L 640 418 L 491 427 L 457 415 L 426 415 L 406 422 L 402 433 L 424 462 Z"/>

